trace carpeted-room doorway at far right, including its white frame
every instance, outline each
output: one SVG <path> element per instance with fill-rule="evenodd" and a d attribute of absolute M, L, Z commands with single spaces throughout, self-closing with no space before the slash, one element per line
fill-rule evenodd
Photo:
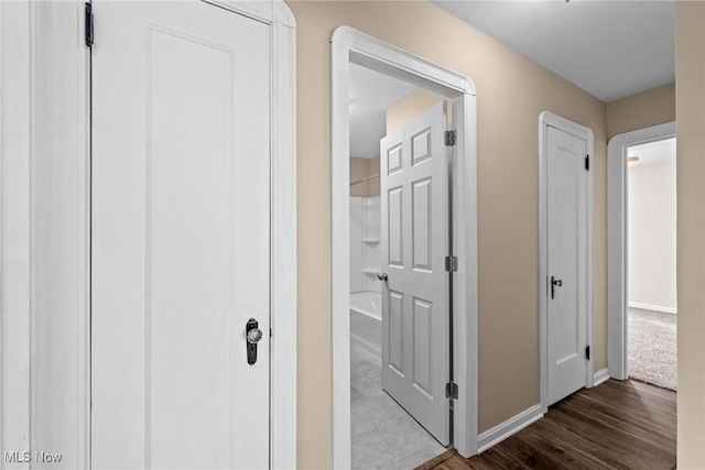
<path fill-rule="evenodd" d="M 607 147 L 607 363 L 612 379 L 626 380 L 630 375 L 630 339 L 640 339 L 642 343 L 663 340 L 659 350 L 665 357 L 671 356 L 669 350 L 675 346 L 674 339 L 664 339 L 675 336 L 675 181 L 671 174 L 675 165 L 675 122 L 666 122 L 616 135 Z M 670 223 L 673 227 L 668 227 Z M 670 239 L 673 241 L 669 242 Z M 650 286 L 650 282 L 663 285 Z M 639 323 L 632 325 L 633 338 L 629 331 L 630 308 L 640 308 L 632 310 Z M 652 310 L 665 313 L 659 316 Z M 655 325 L 657 317 L 663 323 Z M 657 326 L 661 332 L 655 332 Z M 639 359 L 641 362 L 654 362 L 649 358 L 654 358 L 654 350 L 649 352 L 649 348 L 641 348 L 646 351 L 646 359 Z M 671 376 L 674 386 L 675 357 L 671 358 L 665 362 L 672 367 L 659 360 L 662 362 L 659 375 Z M 673 373 L 666 373 L 669 369 Z M 641 376 L 646 380 L 648 375 Z"/>

